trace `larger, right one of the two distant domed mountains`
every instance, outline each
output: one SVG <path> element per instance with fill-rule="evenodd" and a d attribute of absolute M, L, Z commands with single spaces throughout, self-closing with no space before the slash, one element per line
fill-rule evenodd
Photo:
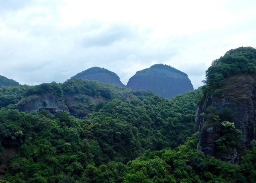
<path fill-rule="evenodd" d="M 129 79 L 127 87 L 150 90 L 164 98 L 172 98 L 193 90 L 193 85 L 185 73 L 163 64 L 155 64 L 138 71 Z"/>

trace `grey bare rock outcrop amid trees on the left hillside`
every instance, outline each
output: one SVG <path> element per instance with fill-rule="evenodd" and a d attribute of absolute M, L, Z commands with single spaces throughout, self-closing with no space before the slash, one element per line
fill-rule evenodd
<path fill-rule="evenodd" d="M 52 93 L 29 96 L 17 104 L 17 109 L 26 113 L 36 113 L 42 109 L 49 110 L 50 113 L 68 111 L 68 107 L 61 97 Z"/>

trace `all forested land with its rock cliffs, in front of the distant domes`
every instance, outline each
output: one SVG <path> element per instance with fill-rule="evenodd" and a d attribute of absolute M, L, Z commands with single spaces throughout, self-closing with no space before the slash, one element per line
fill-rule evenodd
<path fill-rule="evenodd" d="M 0 183 L 255 183 L 255 68 L 255 49 L 230 50 L 172 99 L 81 78 L 2 87 Z"/>

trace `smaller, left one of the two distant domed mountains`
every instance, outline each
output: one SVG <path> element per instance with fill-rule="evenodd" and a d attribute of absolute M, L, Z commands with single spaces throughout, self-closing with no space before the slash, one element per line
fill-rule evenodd
<path fill-rule="evenodd" d="M 117 84 L 121 87 L 125 87 L 116 73 L 100 67 L 92 67 L 90 69 L 84 70 L 71 78 L 96 80 L 102 83 Z"/>

